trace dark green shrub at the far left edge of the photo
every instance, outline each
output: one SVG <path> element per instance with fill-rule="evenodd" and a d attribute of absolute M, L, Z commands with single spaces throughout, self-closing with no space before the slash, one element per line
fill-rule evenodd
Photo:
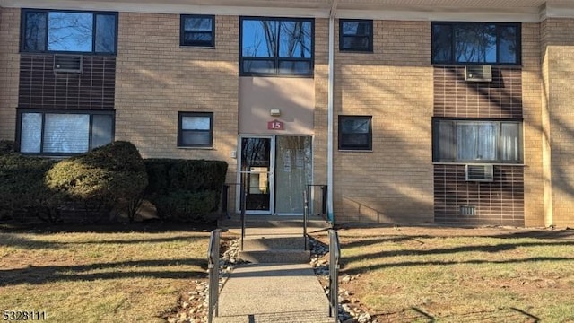
<path fill-rule="evenodd" d="M 25 220 L 30 216 L 55 223 L 63 196 L 48 188 L 45 177 L 54 160 L 0 155 L 0 217 Z"/>

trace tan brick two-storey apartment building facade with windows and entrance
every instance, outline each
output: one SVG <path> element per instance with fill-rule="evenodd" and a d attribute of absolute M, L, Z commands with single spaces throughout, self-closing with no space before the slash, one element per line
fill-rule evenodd
<path fill-rule="evenodd" d="M 222 160 L 249 216 L 574 223 L 574 6 L 274 3 L 0 0 L 0 139 Z"/>

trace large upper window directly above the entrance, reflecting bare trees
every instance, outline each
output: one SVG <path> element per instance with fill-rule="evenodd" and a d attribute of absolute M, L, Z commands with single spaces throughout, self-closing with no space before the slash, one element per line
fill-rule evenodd
<path fill-rule="evenodd" d="M 240 74 L 313 74 L 313 22 L 241 18 Z"/>

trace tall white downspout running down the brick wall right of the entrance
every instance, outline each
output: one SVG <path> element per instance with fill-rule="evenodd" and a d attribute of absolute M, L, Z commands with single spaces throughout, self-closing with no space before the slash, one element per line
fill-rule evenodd
<path fill-rule="evenodd" d="M 331 3 L 329 13 L 329 71 L 327 90 L 327 156 L 326 156 L 326 214 L 332 225 L 335 224 L 335 214 L 333 214 L 333 89 L 335 83 L 335 14 L 338 0 Z"/>

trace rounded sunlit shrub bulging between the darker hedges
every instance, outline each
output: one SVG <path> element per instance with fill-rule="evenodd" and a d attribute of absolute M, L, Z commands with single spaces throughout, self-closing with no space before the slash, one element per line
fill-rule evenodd
<path fill-rule="evenodd" d="M 134 144 L 121 141 L 58 162 L 46 179 L 49 188 L 100 216 L 134 204 L 148 184 L 142 156 Z"/>

